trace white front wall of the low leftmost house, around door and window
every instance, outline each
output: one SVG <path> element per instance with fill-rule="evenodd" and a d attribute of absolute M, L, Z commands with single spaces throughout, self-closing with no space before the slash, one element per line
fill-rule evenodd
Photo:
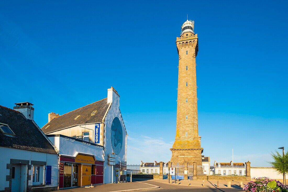
<path fill-rule="evenodd" d="M 32 161 L 46 161 L 47 165 L 52 166 L 51 172 L 51 185 L 46 186 L 57 186 L 58 185 L 58 156 L 56 154 L 41 153 L 35 151 L 28 151 L 22 149 L 15 149 L 9 147 L 0 147 L 1 158 L 0 158 L 0 191 L 4 190 L 5 187 L 9 187 L 9 181 L 6 181 L 6 175 L 10 174 L 10 170 L 6 169 L 7 164 L 10 164 L 10 159 L 23 159 L 29 160 L 31 165 Z M 29 174 L 31 171 L 29 171 Z M 32 180 L 28 182 L 28 185 L 32 185 Z"/>

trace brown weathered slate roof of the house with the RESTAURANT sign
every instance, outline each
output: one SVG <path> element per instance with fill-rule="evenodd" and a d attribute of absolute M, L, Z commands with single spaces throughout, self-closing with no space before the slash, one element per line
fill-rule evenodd
<path fill-rule="evenodd" d="M 102 122 L 102 119 L 105 116 L 109 105 L 110 103 L 107 103 L 107 98 L 96 101 L 95 103 L 91 103 L 89 105 L 54 118 L 52 121 L 44 125 L 41 129 L 45 134 L 48 134 L 76 125 Z M 97 110 L 96 114 L 91 115 L 91 113 L 95 110 Z M 75 119 L 78 115 L 80 116 Z"/>

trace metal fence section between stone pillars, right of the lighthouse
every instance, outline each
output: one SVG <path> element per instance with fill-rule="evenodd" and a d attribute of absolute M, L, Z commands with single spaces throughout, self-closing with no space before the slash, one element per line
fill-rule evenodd
<path fill-rule="evenodd" d="M 246 165 L 235 167 L 197 165 L 197 175 L 246 176 Z"/>

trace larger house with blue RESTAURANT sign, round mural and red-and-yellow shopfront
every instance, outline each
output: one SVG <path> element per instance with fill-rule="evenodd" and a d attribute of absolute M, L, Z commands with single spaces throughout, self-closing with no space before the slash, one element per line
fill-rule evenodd
<path fill-rule="evenodd" d="M 117 182 L 108 155 L 116 155 L 115 163 L 126 161 L 128 136 L 119 101 L 111 87 L 105 99 L 61 116 L 48 114 L 42 130 L 59 150 L 60 189 Z"/>

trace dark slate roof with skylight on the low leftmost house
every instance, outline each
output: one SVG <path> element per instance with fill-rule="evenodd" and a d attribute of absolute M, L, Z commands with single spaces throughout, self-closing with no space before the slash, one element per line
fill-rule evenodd
<path fill-rule="evenodd" d="M 9 137 L 0 131 L 0 146 L 57 154 L 40 128 L 20 112 L 0 106 L 0 123 L 7 124 L 16 135 Z"/>

